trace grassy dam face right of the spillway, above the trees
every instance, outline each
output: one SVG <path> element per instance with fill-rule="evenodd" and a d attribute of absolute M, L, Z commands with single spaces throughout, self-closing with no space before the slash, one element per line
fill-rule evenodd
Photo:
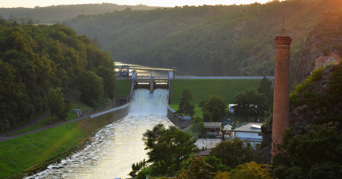
<path fill-rule="evenodd" d="M 253 87 L 259 88 L 261 79 L 174 79 L 172 81 L 171 104 L 177 110 L 181 102 L 183 89 L 188 88 L 192 94 L 194 104 L 198 108 L 201 100 L 210 95 L 220 95 L 227 105 L 232 104 L 233 98 L 241 92 Z M 196 109 L 196 115 L 202 116 L 202 110 Z"/>

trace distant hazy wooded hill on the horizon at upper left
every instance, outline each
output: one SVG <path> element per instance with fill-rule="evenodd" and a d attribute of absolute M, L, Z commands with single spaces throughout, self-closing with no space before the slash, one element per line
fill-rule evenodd
<path fill-rule="evenodd" d="M 119 5 L 113 3 L 101 4 L 73 4 L 73 5 L 52 5 L 49 7 L 35 8 L 0 8 L 0 15 L 9 22 L 26 24 L 29 20 L 38 23 L 63 23 L 68 18 L 77 17 L 79 14 L 100 14 L 113 11 L 122 11 L 126 8 L 132 10 L 152 10 L 158 7 L 138 5 Z"/>

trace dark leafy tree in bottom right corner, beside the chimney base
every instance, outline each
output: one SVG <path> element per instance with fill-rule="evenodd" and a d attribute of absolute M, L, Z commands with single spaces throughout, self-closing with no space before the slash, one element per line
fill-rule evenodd
<path fill-rule="evenodd" d="M 274 156 L 274 178 L 341 178 L 342 135 L 339 124 L 308 126 L 303 135 L 284 137 L 284 154 Z M 281 159 L 285 157 L 289 162 Z M 280 163 L 279 161 L 285 161 Z"/>

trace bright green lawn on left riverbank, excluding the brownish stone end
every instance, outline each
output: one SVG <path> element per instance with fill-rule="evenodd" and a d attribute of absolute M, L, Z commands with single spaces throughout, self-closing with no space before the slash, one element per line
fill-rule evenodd
<path fill-rule="evenodd" d="M 78 125 L 69 123 L 0 142 L 0 178 L 66 152 L 84 138 Z"/>

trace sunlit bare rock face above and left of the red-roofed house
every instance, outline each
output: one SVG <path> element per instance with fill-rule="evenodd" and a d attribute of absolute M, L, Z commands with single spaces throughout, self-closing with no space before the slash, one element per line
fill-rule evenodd
<path fill-rule="evenodd" d="M 316 25 L 306 38 L 304 47 L 292 56 L 290 75 L 293 84 L 300 84 L 310 76 L 315 66 L 315 60 L 323 55 L 323 49 L 341 54 L 341 51 L 332 47 L 342 44 L 342 24 L 332 23 L 331 18 L 323 16 L 322 22 Z"/>

